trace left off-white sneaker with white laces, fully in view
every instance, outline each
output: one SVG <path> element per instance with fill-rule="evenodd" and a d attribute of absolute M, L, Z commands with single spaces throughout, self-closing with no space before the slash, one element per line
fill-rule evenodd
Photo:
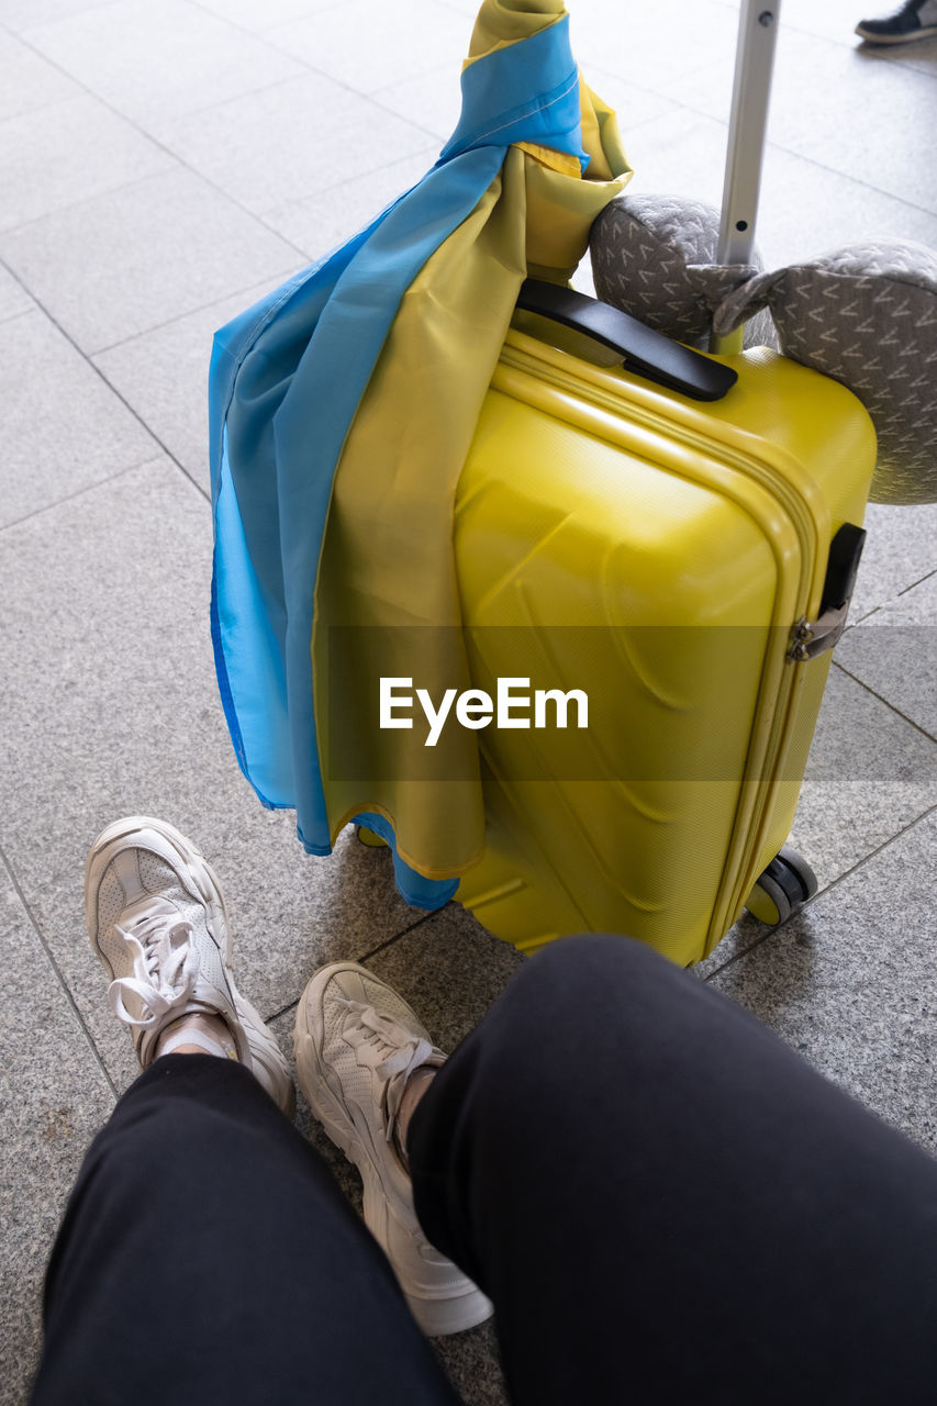
<path fill-rule="evenodd" d="M 153 1062 L 167 1025 L 196 1012 L 219 1015 L 231 1031 L 232 1057 L 293 1115 L 288 1066 L 234 983 L 218 880 L 184 835 L 144 815 L 101 831 L 84 869 L 84 918 L 111 977 L 111 1010 L 129 1025 L 141 1069 Z M 163 1053 L 170 1043 L 212 1045 L 198 1032 L 170 1039 Z"/>

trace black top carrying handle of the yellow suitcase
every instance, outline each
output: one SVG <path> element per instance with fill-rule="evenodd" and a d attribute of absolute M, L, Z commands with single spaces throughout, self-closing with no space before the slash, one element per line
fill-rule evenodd
<path fill-rule="evenodd" d="M 561 288 L 556 283 L 525 278 L 518 308 L 594 337 L 618 352 L 629 371 L 667 385 L 671 391 L 681 391 L 694 401 L 720 401 L 739 380 L 730 367 L 710 361 L 680 342 L 671 342 L 627 312 L 619 312 L 608 302 L 587 298 L 585 294 Z"/>

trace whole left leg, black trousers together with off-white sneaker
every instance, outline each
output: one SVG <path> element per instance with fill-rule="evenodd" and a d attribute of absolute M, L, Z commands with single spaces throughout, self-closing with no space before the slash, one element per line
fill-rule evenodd
<path fill-rule="evenodd" d="M 146 1071 L 69 1202 L 34 1402 L 456 1402 L 384 1256 L 283 1116 L 286 1060 L 234 984 L 198 851 L 163 821 L 108 827 L 86 915 Z"/>

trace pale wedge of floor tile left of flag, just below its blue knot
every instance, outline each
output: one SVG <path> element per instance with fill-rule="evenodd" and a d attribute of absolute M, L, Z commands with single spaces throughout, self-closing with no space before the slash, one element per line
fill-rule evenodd
<path fill-rule="evenodd" d="M 415 186 L 438 155 L 438 143 L 433 143 L 369 176 L 356 176 L 308 200 L 277 205 L 264 214 L 264 224 L 290 243 L 304 249 L 310 259 L 319 259 L 357 233 L 385 205 Z"/>

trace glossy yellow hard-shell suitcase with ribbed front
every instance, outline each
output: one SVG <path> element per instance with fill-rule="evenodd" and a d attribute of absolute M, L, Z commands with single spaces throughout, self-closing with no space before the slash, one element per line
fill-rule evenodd
<path fill-rule="evenodd" d="M 473 683 L 580 690 L 588 727 L 573 711 L 559 725 L 552 699 L 553 725 L 478 731 L 485 855 L 457 898 L 528 950 L 609 931 L 688 965 L 763 875 L 760 915 L 810 891 L 809 869 L 775 856 L 848 606 L 875 437 L 847 389 L 765 349 L 722 359 L 737 384 L 703 404 L 570 339 L 515 319 L 454 548 Z"/>

